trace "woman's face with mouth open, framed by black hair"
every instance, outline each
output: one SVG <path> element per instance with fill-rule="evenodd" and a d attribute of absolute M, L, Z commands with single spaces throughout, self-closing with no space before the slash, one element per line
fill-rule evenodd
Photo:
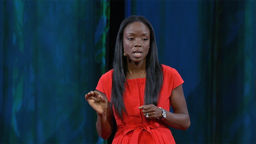
<path fill-rule="evenodd" d="M 149 52 L 149 28 L 142 22 L 134 22 L 124 29 L 124 52 L 132 62 L 141 62 Z"/>

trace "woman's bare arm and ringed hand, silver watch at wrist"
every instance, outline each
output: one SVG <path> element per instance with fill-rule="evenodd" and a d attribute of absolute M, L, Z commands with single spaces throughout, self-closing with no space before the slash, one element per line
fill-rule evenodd
<path fill-rule="evenodd" d="M 182 84 L 172 90 L 169 99 L 174 113 L 165 110 L 166 118 L 163 119 L 163 121 L 176 129 L 188 129 L 190 126 L 190 119 L 183 94 Z M 142 112 L 144 113 L 144 116 L 149 113 L 150 119 L 162 118 L 162 110 L 154 104 L 141 106 L 139 109 L 143 109 Z"/>

